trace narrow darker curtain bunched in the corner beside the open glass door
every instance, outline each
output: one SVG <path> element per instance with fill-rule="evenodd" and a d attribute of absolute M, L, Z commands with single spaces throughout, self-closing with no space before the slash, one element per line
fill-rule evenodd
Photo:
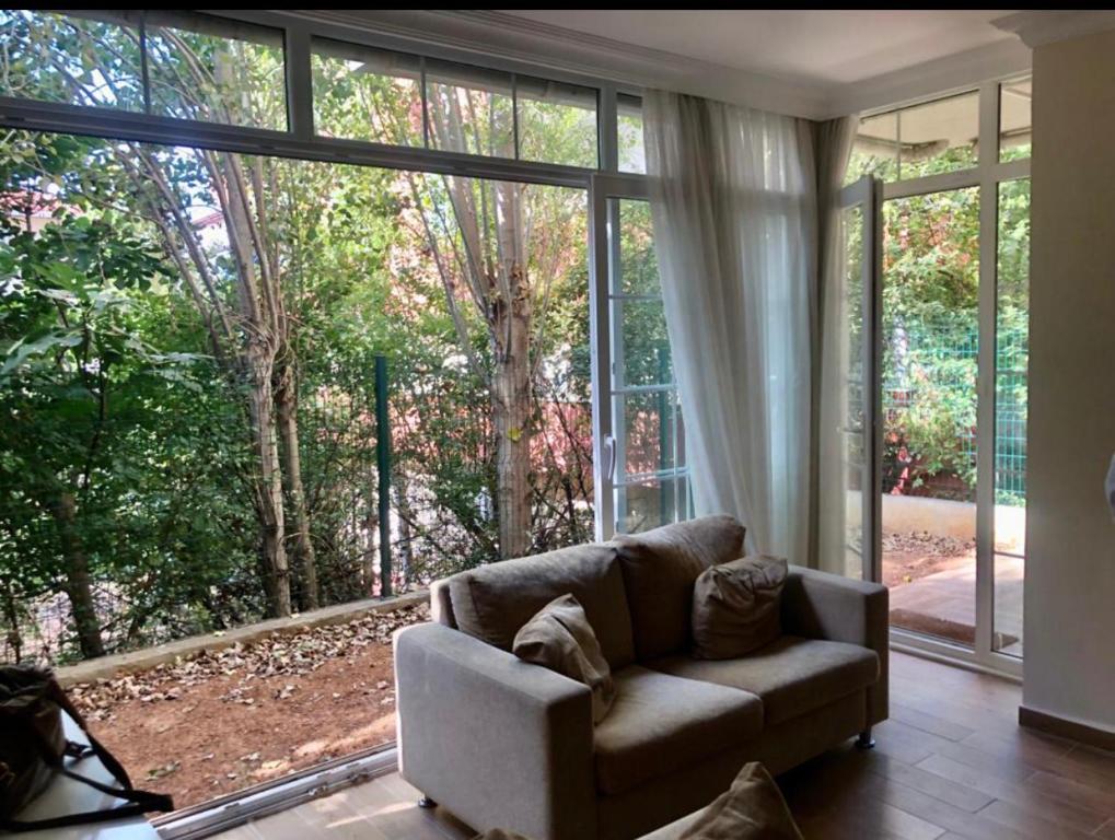
<path fill-rule="evenodd" d="M 821 321 L 817 348 L 820 358 L 814 365 L 817 447 L 815 460 L 816 540 L 815 566 L 837 575 L 860 577 L 862 556 L 855 548 L 862 544 L 863 500 L 852 488 L 852 463 L 849 461 L 849 438 L 844 431 L 850 421 L 850 383 L 855 379 L 862 352 L 850 331 L 852 314 L 862 311 L 863 290 L 847 276 L 847 254 L 840 193 L 847 173 L 859 116 L 821 123 L 816 127 L 815 160 L 817 168 L 817 242 L 820 271 L 817 295 Z M 864 219 L 870 223 L 870 219 Z M 863 375 L 860 371 L 859 375 Z M 866 384 L 861 391 L 866 394 Z M 866 453 L 864 453 L 866 455 Z M 852 550 L 850 550 L 850 548 Z"/>

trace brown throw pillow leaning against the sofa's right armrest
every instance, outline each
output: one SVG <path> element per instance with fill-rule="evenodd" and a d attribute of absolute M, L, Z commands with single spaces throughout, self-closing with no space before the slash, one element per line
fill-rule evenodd
<path fill-rule="evenodd" d="M 786 560 L 744 557 L 705 569 L 694 584 L 694 656 L 734 660 L 782 635 Z"/>

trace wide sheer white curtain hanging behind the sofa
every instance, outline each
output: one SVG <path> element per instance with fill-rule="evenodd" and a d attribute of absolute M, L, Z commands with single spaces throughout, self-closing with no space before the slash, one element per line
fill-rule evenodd
<path fill-rule="evenodd" d="M 655 245 L 696 512 L 808 561 L 816 238 L 807 128 L 666 91 L 643 97 Z"/>

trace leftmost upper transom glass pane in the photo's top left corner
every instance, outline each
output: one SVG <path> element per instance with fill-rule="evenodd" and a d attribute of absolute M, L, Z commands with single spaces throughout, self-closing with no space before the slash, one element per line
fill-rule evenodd
<path fill-rule="evenodd" d="M 0 10 L 0 95 L 143 110 L 139 31 L 123 16 Z"/>

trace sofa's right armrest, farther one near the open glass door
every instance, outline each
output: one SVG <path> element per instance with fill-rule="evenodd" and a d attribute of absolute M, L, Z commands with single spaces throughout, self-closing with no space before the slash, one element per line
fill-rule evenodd
<path fill-rule="evenodd" d="M 882 584 L 791 566 L 783 589 L 783 629 L 795 636 L 870 647 L 879 655 L 879 682 L 867 690 L 867 725 L 889 707 L 890 593 Z"/>

